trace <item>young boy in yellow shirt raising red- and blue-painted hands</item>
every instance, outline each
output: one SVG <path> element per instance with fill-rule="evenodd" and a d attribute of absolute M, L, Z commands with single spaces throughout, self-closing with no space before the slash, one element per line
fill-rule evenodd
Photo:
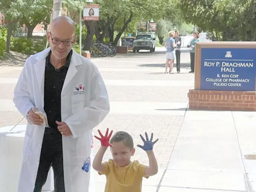
<path fill-rule="evenodd" d="M 146 151 L 149 159 L 149 166 L 140 164 L 137 160 L 131 162 L 131 156 L 134 155 L 135 149 L 133 147 L 133 138 L 124 131 L 119 131 L 110 139 L 113 131 L 108 135 L 107 129 L 105 136 L 98 130 L 101 138 L 96 139 L 101 141 L 101 147 L 94 157 L 92 167 L 98 173 L 105 174 L 107 181 L 105 185 L 105 192 L 141 192 L 142 191 L 142 177 L 148 178 L 158 172 L 158 166 L 153 152 L 153 146 L 158 141 L 152 142 L 153 133 L 151 133 L 150 140 L 147 133 L 146 140 L 141 136 L 144 145 L 137 145 Z M 101 163 L 103 155 L 110 146 L 110 151 L 113 160 Z"/>

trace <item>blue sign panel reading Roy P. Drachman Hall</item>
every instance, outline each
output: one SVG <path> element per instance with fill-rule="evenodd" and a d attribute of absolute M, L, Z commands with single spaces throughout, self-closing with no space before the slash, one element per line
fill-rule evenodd
<path fill-rule="evenodd" d="M 202 48 L 201 88 L 255 91 L 256 49 Z"/>

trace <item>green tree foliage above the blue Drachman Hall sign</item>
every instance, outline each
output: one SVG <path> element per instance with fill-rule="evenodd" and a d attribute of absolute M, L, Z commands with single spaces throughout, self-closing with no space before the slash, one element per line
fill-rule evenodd
<path fill-rule="evenodd" d="M 183 18 L 223 41 L 256 40 L 255 0 L 180 0 Z"/>

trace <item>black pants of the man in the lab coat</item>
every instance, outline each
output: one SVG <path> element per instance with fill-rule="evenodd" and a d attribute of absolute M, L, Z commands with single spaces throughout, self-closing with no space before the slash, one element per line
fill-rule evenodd
<path fill-rule="evenodd" d="M 48 132 L 47 129 L 55 131 L 52 133 L 52 130 Z M 58 129 L 56 129 L 57 128 L 46 128 L 34 192 L 41 192 L 43 185 L 46 183 L 51 166 L 54 174 L 55 192 L 65 192 L 62 135 L 59 133 Z"/>

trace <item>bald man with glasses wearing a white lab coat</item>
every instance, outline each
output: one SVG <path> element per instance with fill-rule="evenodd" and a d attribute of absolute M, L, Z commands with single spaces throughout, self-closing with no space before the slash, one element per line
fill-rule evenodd
<path fill-rule="evenodd" d="M 109 113 L 96 66 L 72 46 L 75 24 L 66 16 L 50 24 L 50 48 L 30 56 L 14 90 L 27 129 L 18 192 L 41 192 L 52 167 L 55 192 L 88 192 L 92 129 Z"/>

